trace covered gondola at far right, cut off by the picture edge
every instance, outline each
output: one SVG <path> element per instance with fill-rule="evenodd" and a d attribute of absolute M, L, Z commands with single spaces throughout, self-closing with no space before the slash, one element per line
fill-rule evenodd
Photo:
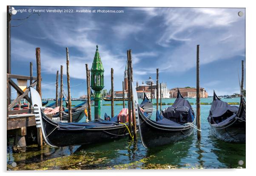
<path fill-rule="evenodd" d="M 213 91 L 208 123 L 213 135 L 230 143 L 245 143 L 245 99 L 241 95 L 240 105 L 231 106 L 221 101 Z"/>

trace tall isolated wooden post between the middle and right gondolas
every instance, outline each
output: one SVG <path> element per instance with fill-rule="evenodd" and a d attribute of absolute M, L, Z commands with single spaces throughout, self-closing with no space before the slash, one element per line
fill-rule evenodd
<path fill-rule="evenodd" d="M 199 85 L 199 44 L 196 46 L 196 124 L 197 129 L 201 130 L 200 119 L 200 85 Z M 201 132 L 197 130 L 197 139 L 201 140 Z"/>

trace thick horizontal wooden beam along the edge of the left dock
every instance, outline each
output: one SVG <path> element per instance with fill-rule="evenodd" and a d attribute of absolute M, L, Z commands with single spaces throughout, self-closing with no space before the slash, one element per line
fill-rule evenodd
<path fill-rule="evenodd" d="M 22 118 L 8 118 L 7 130 L 18 129 L 27 126 L 35 126 L 36 121 L 34 116 L 22 117 Z"/>

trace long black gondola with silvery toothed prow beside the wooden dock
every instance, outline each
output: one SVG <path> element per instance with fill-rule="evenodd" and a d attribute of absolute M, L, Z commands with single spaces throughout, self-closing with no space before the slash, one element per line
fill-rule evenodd
<path fill-rule="evenodd" d="M 39 93 L 34 88 L 30 88 L 30 92 L 36 125 L 41 128 L 46 143 L 52 147 L 108 142 L 129 135 L 128 127 L 116 121 L 54 122 L 43 113 Z"/>

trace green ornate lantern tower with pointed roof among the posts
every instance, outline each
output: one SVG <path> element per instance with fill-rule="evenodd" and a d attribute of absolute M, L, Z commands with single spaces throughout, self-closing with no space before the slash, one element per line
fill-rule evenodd
<path fill-rule="evenodd" d="M 104 88 L 104 69 L 100 59 L 98 45 L 91 67 L 91 88 L 94 90 L 94 119 L 100 118 L 101 90 Z"/>

